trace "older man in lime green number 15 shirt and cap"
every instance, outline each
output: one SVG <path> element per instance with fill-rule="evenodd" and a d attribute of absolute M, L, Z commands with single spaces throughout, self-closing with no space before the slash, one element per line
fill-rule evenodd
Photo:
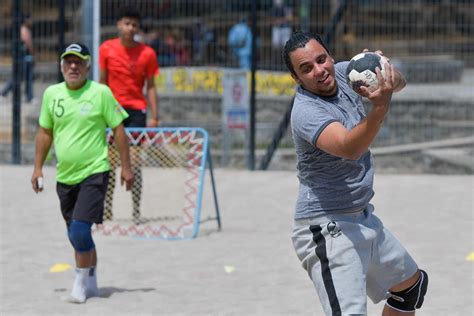
<path fill-rule="evenodd" d="M 122 184 L 130 190 L 134 180 L 122 123 L 128 115 L 107 86 L 87 79 L 90 60 L 89 50 L 82 44 L 71 44 L 62 52 L 61 71 L 65 81 L 44 92 L 31 177 L 33 190 L 42 191 L 42 168 L 54 142 L 56 190 L 75 251 L 76 278 L 67 298 L 73 303 L 84 303 L 87 298 L 99 295 L 91 226 L 102 222 L 104 212 L 110 170 L 107 127 L 113 130 L 120 152 Z"/>

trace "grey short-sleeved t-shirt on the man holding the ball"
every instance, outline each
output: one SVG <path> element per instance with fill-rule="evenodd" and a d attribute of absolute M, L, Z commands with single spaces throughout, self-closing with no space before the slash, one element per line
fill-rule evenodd
<path fill-rule="evenodd" d="M 362 98 L 346 83 L 347 64 L 335 65 L 338 90 L 333 97 L 297 88 L 291 113 L 300 182 L 295 219 L 362 208 L 374 195 L 370 151 L 358 160 L 350 160 L 333 156 L 315 145 L 332 122 L 340 122 L 351 130 L 365 117 Z"/>

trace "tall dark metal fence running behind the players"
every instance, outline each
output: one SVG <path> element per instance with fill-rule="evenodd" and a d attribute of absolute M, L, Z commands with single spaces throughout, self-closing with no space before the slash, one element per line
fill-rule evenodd
<path fill-rule="evenodd" d="M 66 43 L 84 41 L 90 25 L 87 0 L 23 0 L 34 42 L 36 100 L 57 80 L 61 35 Z M 472 135 L 474 128 L 474 3 L 469 0 L 285 0 L 292 30 L 331 35 L 336 60 L 363 48 L 381 49 L 404 71 L 408 92 L 394 98 L 390 117 L 376 145 L 399 145 Z M 0 84 L 11 77 L 13 1 L 0 1 Z M 59 23 L 60 3 L 65 23 Z M 116 36 L 121 0 L 100 1 L 101 41 Z M 158 53 L 163 76 L 157 79 L 165 125 L 198 125 L 211 135 L 221 131 L 221 69 L 238 67 L 228 45 L 230 28 L 252 12 L 252 0 L 137 0 L 142 13 L 141 39 Z M 257 139 L 264 147 L 283 119 L 294 82 L 284 71 L 281 46 L 272 45 L 272 0 L 256 1 Z M 341 5 L 344 10 L 338 11 Z M 64 33 L 62 33 L 64 31 Z M 189 100 L 192 99 L 192 102 Z M 26 103 L 26 102 L 25 102 Z M 23 107 L 24 142 L 36 106 Z M 11 141 L 9 98 L 0 99 L 0 142 Z M 180 112 L 179 108 L 183 111 Z M 186 112 L 185 112 L 186 111 Z M 32 129 L 32 128 L 30 128 Z M 218 137 L 217 137 L 218 138 Z M 288 146 L 291 142 L 283 142 Z M 215 146 L 216 144 L 213 144 Z"/>

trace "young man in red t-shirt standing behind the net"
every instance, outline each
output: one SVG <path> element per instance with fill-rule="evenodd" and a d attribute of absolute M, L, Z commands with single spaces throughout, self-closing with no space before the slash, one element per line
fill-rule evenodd
<path fill-rule="evenodd" d="M 125 127 L 156 127 L 159 121 L 154 77 L 159 74 L 159 67 L 155 51 L 135 40 L 140 20 L 140 13 L 134 7 L 124 6 L 120 9 L 117 19 L 118 38 L 105 41 L 99 48 L 100 82 L 110 87 L 114 97 L 127 111 L 129 117 L 124 121 Z M 145 84 L 150 108 L 148 121 L 147 100 L 143 94 Z M 133 219 L 138 223 L 143 181 L 140 155 L 137 150 L 132 150 L 131 153 L 136 179 L 132 188 Z M 112 219 L 115 168 L 110 177 L 105 219 Z"/>

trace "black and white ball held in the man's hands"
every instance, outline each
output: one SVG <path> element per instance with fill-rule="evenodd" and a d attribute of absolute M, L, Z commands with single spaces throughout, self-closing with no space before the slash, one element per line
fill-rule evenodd
<path fill-rule="evenodd" d="M 375 68 L 379 67 L 382 76 L 385 77 L 386 63 L 388 63 L 387 57 L 373 52 L 355 55 L 347 66 L 347 83 L 357 93 L 359 93 L 361 86 L 367 87 L 370 92 L 377 90 L 379 81 Z"/>

